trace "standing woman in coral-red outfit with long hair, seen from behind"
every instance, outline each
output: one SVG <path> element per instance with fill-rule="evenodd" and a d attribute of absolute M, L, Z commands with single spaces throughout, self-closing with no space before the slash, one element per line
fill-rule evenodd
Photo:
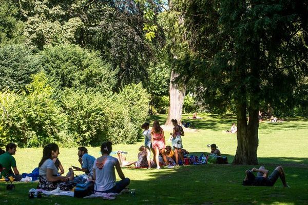
<path fill-rule="evenodd" d="M 155 162 L 157 165 L 157 169 L 160 169 L 158 160 L 159 151 L 161 151 L 162 157 L 166 165 L 168 165 L 168 161 L 165 154 L 165 147 L 166 147 L 165 134 L 163 129 L 159 125 L 159 121 L 157 120 L 155 120 L 153 123 L 153 127 L 151 130 L 151 141 L 152 141 L 152 148 L 155 151 Z"/>

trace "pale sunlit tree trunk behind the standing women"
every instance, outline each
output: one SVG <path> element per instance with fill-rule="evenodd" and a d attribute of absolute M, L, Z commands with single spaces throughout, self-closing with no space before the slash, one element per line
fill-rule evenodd
<path fill-rule="evenodd" d="M 177 119 L 178 124 L 181 124 L 185 91 L 179 90 L 177 85 L 173 83 L 177 76 L 178 74 L 172 70 L 169 87 L 169 110 L 165 125 L 172 125 L 171 119 Z"/>

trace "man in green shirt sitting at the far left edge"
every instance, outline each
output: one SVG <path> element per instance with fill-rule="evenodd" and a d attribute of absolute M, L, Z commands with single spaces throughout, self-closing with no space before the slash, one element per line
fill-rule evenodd
<path fill-rule="evenodd" d="M 0 174 L 0 177 L 6 176 L 6 174 L 8 174 L 9 176 L 13 176 L 15 180 L 21 180 L 22 175 L 20 175 L 19 171 L 17 170 L 16 160 L 12 156 L 16 153 L 16 148 L 16 144 L 9 143 L 5 148 L 6 153 L 0 155 L 0 164 L 4 168 Z"/>

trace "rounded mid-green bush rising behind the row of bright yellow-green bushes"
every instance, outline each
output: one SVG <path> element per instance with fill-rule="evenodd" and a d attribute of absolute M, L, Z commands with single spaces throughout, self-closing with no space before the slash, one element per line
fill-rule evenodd
<path fill-rule="evenodd" d="M 110 64 L 96 52 L 88 52 L 76 45 L 47 47 L 42 52 L 42 67 L 59 87 L 86 88 L 105 92 L 117 83 Z"/>

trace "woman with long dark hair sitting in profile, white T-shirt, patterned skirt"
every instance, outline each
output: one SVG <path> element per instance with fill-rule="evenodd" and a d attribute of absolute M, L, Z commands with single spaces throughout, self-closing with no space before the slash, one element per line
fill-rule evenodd
<path fill-rule="evenodd" d="M 53 159 L 60 154 L 59 146 L 55 143 L 48 144 L 43 149 L 43 157 L 38 163 L 40 173 L 40 187 L 44 190 L 54 190 L 59 187 L 62 191 L 71 190 L 74 187 L 74 172 L 71 170 L 70 176 L 57 176 L 57 169 Z"/>

